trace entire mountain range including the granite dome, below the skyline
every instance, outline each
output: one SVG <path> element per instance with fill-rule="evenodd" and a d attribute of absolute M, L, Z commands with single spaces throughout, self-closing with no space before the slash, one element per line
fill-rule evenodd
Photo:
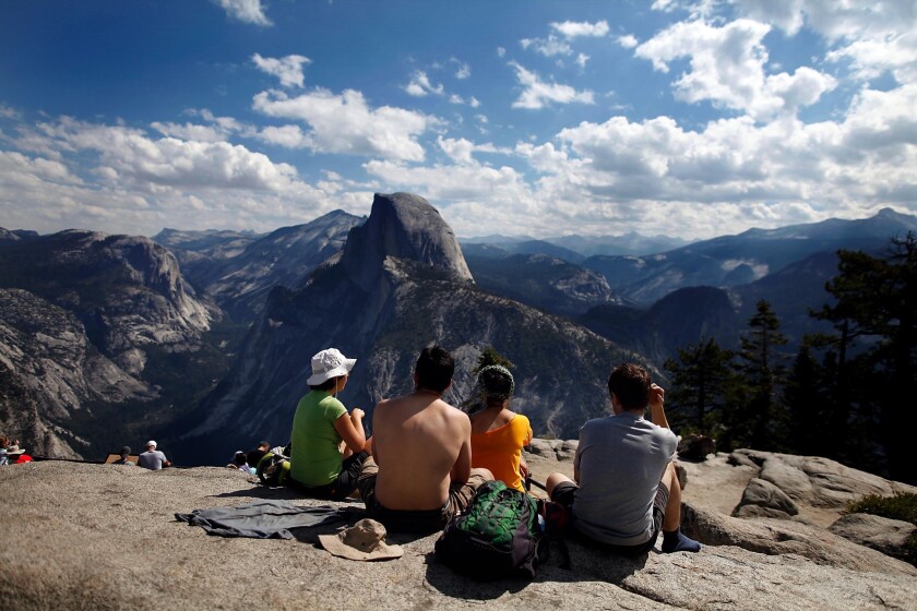
<path fill-rule="evenodd" d="M 315 351 L 358 359 L 342 398 L 371 412 L 410 390 L 417 352 L 439 342 L 457 362 L 449 400 L 468 398 L 493 346 L 536 433 L 575 438 L 606 409 L 615 362 L 664 380 L 686 344 L 735 346 L 759 299 L 798 342 L 837 249 L 881 252 L 913 230 L 917 217 L 885 209 L 640 255 L 588 254 L 587 240 L 460 245 L 406 193 L 377 195 L 368 218 L 336 211 L 263 235 L 0 228 L 0 431 L 52 456 L 154 435 L 186 464 L 224 460 L 286 441 Z"/>

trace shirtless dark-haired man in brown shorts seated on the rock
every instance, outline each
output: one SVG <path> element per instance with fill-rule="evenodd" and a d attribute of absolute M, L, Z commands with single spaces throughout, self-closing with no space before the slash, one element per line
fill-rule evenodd
<path fill-rule="evenodd" d="M 369 515 L 391 530 L 442 529 L 493 476 L 472 469 L 468 416 L 442 400 L 452 356 L 424 348 L 412 394 L 380 402 L 372 416 L 372 457 L 357 482 Z"/>

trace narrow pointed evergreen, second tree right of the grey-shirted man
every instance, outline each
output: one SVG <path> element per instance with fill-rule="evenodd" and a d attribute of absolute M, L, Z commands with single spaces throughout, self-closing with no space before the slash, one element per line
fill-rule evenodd
<path fill-rule="evenodd" d="M 785 438 L 783 406 L 776 400 L 784 371 L 777 347 L 787 339 L 779 332 L 779 319 L 763 299 L 748 326 L 735 363 L 739 382 L 733 388 L 733 407 L 724 415 L 728 444 L 777 450 Z"/>

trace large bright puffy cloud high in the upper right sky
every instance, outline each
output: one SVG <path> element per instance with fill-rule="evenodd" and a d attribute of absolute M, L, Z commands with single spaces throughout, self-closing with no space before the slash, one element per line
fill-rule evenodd
<path fill-rule="evenodd" d="M 837 84 L 832 76 L 805 67 L 794 74 L 765 74 L 767 51 L 762 39 L 767 32 L 769 25 L 751 20 L 723 27 L 681 22 L 640 45 L 635 55 L 663 72 L 668 72 L 669 62 L 690 58 L 690 70 L 675 82 L 678 98 L 710 100 L 765 121 L 813 104 Z"/>

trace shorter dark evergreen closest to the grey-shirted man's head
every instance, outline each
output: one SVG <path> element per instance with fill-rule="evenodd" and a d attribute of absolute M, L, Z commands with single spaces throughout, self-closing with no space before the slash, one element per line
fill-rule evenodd
<path fill-rule="evenodd" d="M 668 359 L 664 367 L 671 373 L 670 403 L 672 426 L 683 432 L 716 436 L 727 394 L 733 382 L 729 364 L 733 352 L 719 347 L 714 338 L 701 338 L 695 346 L 679 348 L 678 360 Z"/>

